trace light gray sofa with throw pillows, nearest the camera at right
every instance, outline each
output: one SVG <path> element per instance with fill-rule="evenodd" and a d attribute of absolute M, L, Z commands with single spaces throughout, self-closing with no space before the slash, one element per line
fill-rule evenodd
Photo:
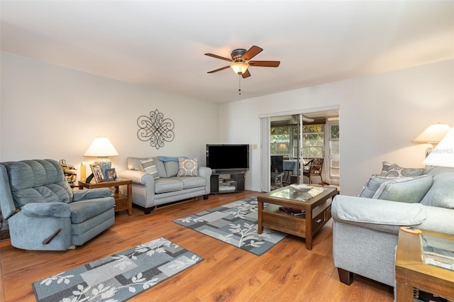
<path fill-rule="evenodd" d="M 454 234 L 454 168 L 429 167 L 397 181 L 371 177 L 361 196 L 369 197 L 338 195 L 331 206 L 334 264 L 345 284 L 359 274 L 394 286 L 402 225 Z"/>

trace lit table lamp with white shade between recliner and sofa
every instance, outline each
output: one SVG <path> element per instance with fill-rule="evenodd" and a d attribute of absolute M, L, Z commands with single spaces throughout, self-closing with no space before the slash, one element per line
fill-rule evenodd
<path fill-rule="evenodd" d="M 104 175 L 104 179 L 107 179 L 107 169 L 111 169 L 111 160 L 109 160 L 109 156 L 116 156 L 118 152 L 115 150 L 114 145 L 112 145 L 109 138 L 95 138 L 92 142 L 92 145 L 87 149 L 84 156 L 90 157 L 98 157 L 97 160 L 94 162 L 99 164 L 101 167 L 102 174 Z M 87 182 L 89 179 L 91 180 L 93 177 L 90 175 L 87 177 Z"/>

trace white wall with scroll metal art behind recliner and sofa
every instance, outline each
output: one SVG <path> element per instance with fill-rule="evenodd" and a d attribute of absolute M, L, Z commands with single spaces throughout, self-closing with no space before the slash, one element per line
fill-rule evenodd
<path fill-rule="evenodd" d="M 84 157 L 96 136 L 126 157 L 186 155 L 205 164 L 205 145 L 218 140 L 218 105 L 96 77 L 1 53 L 0 162 L 36 158 L 92 162 Z M 157 150 L 137 137 L 139 116 L 158 109 L 175 122 L 175 139 Z M 87 171 L 88 173 L 88 171 Z"/>

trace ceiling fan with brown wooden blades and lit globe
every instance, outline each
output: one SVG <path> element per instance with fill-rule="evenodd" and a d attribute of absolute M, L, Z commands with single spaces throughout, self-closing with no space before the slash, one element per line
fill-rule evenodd
<path fill-rule="evenodd" d="M 250 77 L 250 72 L 248 70 L 249 67 L 278 67 L 280 61 L 250 61 L 262 50 L 262 48 L 255 45 L 253 45 L 253 47 L 250 47 L 247 51 L 243 48 L 237 48 L 236 50 L 232 50 L 231 59 L 227 57 L 221 57 L 219 55 L 214 55 L 212 53 L 206 53 L 205 55 L 208 55 L 209 57 L 216 57 L 216 59 L 231 62 L 231 65 L 211 70 L 211 72 L 208 73 L 212 74 L 214 72 L 219 72 L 223 69 L 231 67 L 235 73 L 240 74 L 241 77 L 245 79 L 247 77 Z"/>

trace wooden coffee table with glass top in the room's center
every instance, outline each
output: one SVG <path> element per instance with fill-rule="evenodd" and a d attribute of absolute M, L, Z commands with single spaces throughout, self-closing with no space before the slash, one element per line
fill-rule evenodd
<path fill-rule="evenodd" d="M 258 233 L 263 228 L 279 230 L 287 234 L 306 238 L 306 249 L 312 250 L 312 238 L 331 218 L 331 197 L 336 196 L 336 188 L 314 186 L 307 192 L 297 191 L 291 186 L 257 196 Z M 263 203 L 269 203 L 265 209 Z M 301 208 L 305 216 L 292 216 L 279 210 L 281 206 Z"/>

